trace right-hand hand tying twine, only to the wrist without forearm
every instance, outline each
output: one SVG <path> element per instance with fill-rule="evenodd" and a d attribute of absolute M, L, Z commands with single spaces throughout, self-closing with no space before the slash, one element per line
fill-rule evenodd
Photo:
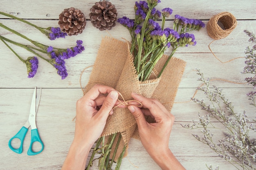
<path fill-rule="evenodd" d="M 174 116 L 156 99 L 134 93 L 132 97 L 143 105 L 141 109 L 135 105 L 128 106 L 137 121 L 141 143 L 150 156 L 165 152 L 168 149 Z M 146 122 L 144 115 L 151 116 L 156 123 Z"/>

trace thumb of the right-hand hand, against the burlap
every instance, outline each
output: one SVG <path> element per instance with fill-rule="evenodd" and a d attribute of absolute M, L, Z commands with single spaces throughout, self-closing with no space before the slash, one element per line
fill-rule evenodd
<path fill-rule="evenodd" d="M 134 105 L 130 105 L 130 106 L 128 106 L 128 109 L 130 110 L 130 112 L 134 116 L 134 118 L 135 118 L 135 120 L 138 124 L 138 128 L 139 129 L 144 129 L 144 127 L 147 125 L 147 122 L 145 120 L 144 114 L 139 109 L 139 107 L 134 106 Z"/>

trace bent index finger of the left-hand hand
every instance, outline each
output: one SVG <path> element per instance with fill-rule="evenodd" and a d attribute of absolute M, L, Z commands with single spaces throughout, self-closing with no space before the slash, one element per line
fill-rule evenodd
<path fill-rule="evenodd" d="M 105 85 L 94 85 L 85 96 L 90 98 L 91 100 L 95 100 L 100 94 L 107 94 L 111 91 L 115 91 L 112 87 L 108 87 Z"/>

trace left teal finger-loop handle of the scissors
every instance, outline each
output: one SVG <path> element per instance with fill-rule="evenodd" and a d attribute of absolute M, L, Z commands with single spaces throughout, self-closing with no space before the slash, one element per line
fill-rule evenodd
<path fill-rule="evenodd" d="M 16 153 L 22 153 L 22 150 L 23 150 L 23 142 L 24 142 L 24 138 L 27 134 L 27 128 L 22 126 L 22 128 L 20 129 L 20 131 L 18 131 L 18 133 L 16 135 L 14 135 L 10 140 L 9 140 L 9 148 L 13 151 L 13 152 L 16 152 Z M 17 149 L 17 148 L 13 148 L 13 146 L 11 146 L 11 141 L 14 139 L 14 138 L 18 138 L 20 139 L 20 147 Z"/>

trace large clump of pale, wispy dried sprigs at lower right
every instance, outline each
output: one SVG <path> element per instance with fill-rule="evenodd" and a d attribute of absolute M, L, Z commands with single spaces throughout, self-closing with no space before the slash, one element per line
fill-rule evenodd
<path fill-rule="evenodd" d="M 198 81 L 202 81 L 205 87 L 199 87 L 198 90 L 204 92 L 209 99 L 207 104 L 205 100 L 193 98 L 192 100 L 207 114 L 202 116 L 198 113 L 199 122 L 193 124 L 182 124 L 186 129 L 202 128 L 202 136 L 192 134 L 200 142 L 207 144 L 219 157 L 230 162 L 236 169 L 256 169 L 256 139 L 250 138 L 251 133 L 256 132 L 256 126 L 247 119 L 246 112 L 236 113 L 234 105 L 222 94 L 222 89 L 213 85 L 213 90 L 209 87 L 210 78 L 205 79 L 203 73 L 197 70 L 200 75 Z M 223 107 L 224 104 L 224 107 Z M 225 128 L 218 128 L 216 123 L 219 122 Z M 255 120 L 254 120 L 255 122 Z M 218 139 L 216 144 L 213 133 L 210 129 L 219 129 L 225 137 Z"/>

